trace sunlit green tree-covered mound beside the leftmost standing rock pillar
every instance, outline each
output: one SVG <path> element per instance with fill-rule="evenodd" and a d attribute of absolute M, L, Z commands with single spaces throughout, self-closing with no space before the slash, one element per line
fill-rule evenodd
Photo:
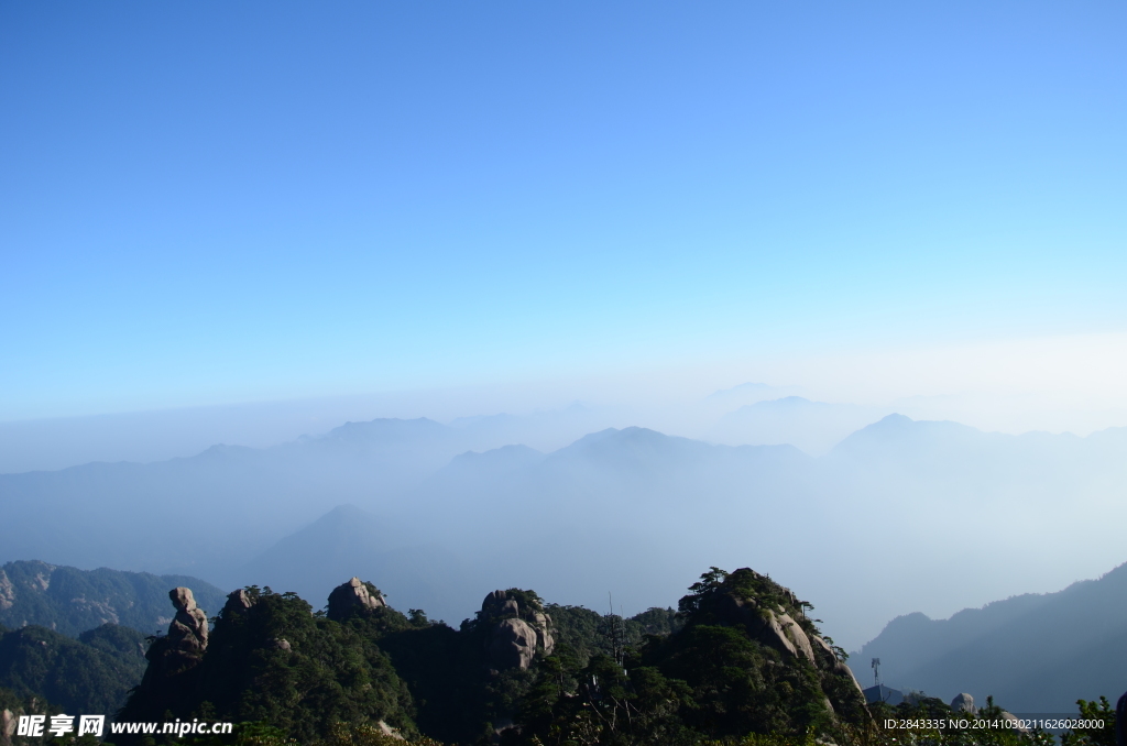
<path fill-rule="evenodd" d="M 249 609 L 223 610 L 198 665 L 168 681 L 147 678 L 121 720 L 199 718 L 266 722 L 301 743 L 336 722 L 380 720 L 415 732 L 407 686 L 376 640 L 410 621 L 390 609 L 364 625 L 313 614 L 293 594 L 248 589 Z M 162 650 L 159 640 L 150 659 Z"/>

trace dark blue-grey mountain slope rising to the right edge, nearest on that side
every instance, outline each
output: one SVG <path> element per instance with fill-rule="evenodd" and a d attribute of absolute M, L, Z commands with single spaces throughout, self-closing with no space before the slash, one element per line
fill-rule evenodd
<path fill-rule="evenodd" d="M 1073 712 L 1076 699 L 1100 695 L 1115 703 L 1127 691 L 1127 565 L 946 620 L 898 616 L 852 663 L 860 672 L 872 658 L 885 683 L 944 701 L 993 695 L 1014 712 Z"/>

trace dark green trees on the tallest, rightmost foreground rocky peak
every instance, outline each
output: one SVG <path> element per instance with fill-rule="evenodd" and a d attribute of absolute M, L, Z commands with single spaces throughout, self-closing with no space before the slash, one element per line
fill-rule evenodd
<path fill-rule="evenodd" d="M 712 568 L 690 590 L 675 619 L 651 610 L 645 621 L 627 620 L 633 629 L 667 623 L 676 632 L 647 634 L 638 646 L 624 631 L 624 645 L 612 639 L 610 651 L 606 643 L 593 652 L 564 645 L 545 658 L 525 701 L 526 727 L 509 740 L 696 744 L 748 734 L 805 737 L 868 721 L 860 691 L 834 672 L 836 661 L 819 668 L 763 641 L 772 614 L 787 613 L 817 634 L 802 613 L 808 604 L 746 569 Z M 571 618 L 591 628 L 583 614 Z"/>

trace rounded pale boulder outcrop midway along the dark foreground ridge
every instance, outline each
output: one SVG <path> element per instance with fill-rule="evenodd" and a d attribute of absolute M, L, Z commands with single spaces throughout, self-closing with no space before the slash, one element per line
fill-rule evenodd
<path fill-rule="evenodd" d="M 551 655 L 556 648 L 551 616 L 534 600 L 531 592 L 494 590 L 481 602 L 478 618 L 488 631 L 490 668 L 527 668 L 538 652 Z"/>

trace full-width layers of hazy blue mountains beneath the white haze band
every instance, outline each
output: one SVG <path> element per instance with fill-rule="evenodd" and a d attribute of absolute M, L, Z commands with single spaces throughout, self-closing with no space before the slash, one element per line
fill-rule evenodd
<path fill-rule="evenodd" d="M 0 561 L 304 593 L 363 565 L 397 605 L 451 621 L 473 610 L 465 577 L 596 609 L 610 590 L 639 612 L 701 567 L 753 566 L 809 588 L 827 632 L 858 647 L 909 611 L 1125 559 L 1127 428 L 1012 436 L 893 415 L 813 458 L 638 427 L 547 453 L 482 447 L 498 423 L 379 419 L 273 449 L 0 474 Z"/>

